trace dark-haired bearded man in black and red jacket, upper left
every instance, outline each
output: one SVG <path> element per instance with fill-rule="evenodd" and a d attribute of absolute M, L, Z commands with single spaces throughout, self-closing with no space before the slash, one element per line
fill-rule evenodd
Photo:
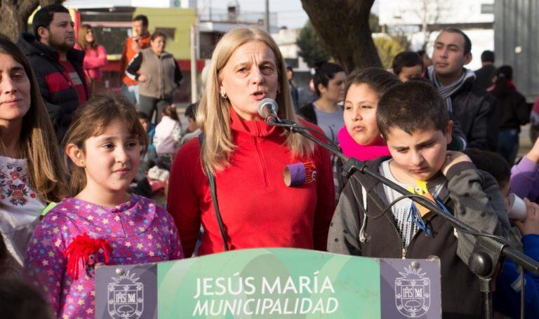
<path fill-rule="evenodd" d="M 84 52 L 73 48 L 73 22 L 64 6 L 51 4 L 41 8 L 32 24 L 34 35 L 21 34 L 17 44 L 34 70 L 60 142 L 73 112 L 89 97 L 82 69 Z"/>

